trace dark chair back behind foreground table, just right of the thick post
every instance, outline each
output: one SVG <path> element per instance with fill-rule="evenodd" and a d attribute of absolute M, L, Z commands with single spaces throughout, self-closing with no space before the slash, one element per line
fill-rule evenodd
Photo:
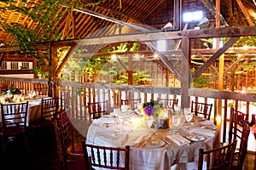
<path fill-rule="evenodd" d="M 195 116 L 203 116 L 207 120 L 210 120 L 212 114 L 212 104 L 191 102 L 191 112 L 195 113 Z"/>

